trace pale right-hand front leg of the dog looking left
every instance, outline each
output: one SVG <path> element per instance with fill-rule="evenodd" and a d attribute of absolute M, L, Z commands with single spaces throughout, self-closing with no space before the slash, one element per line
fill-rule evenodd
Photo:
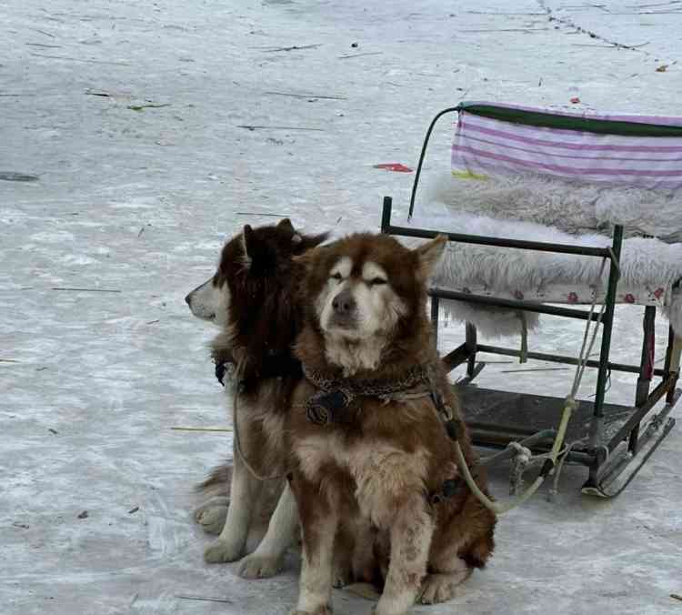
<path fill-rule="evenodd" d="M 239 565 L 239 576 L 244 579 L 265 579 L 282 568 L 286 549 L 296 538 L 298 509 L 289 484 L 277 502 L 277 508 L 267 525 L 266 536 L 256 550 Z"/>

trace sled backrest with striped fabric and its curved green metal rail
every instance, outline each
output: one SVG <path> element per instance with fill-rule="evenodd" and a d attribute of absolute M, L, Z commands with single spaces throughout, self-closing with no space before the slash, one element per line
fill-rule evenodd
<path fill-rule="evenodd" d="M 523 173 L 606 186 L 682 188 L 682 117 L 577 114 L 527 106 L 461 103 L 456 112 L 452 169 L 485 179 Z"/>

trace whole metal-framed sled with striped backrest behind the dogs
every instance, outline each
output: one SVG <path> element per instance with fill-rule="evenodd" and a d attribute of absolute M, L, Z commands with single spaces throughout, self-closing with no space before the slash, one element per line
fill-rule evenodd
<path fill-rule="evenodd" d="M 460 346 L 447 352 L 443 360 L 449 370 L 466 365 L 466 377 L 456 385 L 466 423 L 477 447 L 496 451 L 483 459 L 483 463 L 511 460 L 514 470 L 512 491 L 517 489 L 523 471 L 534 466 L 534 459 L 541 462 L 547 457 L 566 400 L 547 397 L 540 394 L 542 391 L 512 393 L 478 388 L 476 376 L 485 368 L 485 362 L 479 360 L 480 355 L 501 355 L 522 361 L 533 358 L 573 366 L 582 360 L 585 368 L 597 369 L 597 385 L 594 395 L 577 399 L 558 469 L 564 462 L 582 465 L 587 469 L 583 493 L 615 497 L 627 487 L 675 425 L 675 419 L 669 415 L 680 395 L 677 378 L 682 350 L 679 284 L 682 259 L 671 257 L 677 249 L 675 242 L 671 245 L 653 237 L 627 237 L 632 235 L 632 230 L 628 230 L 627 224 L 620 219 L 607 224 L 608 235 L 601 235 L 594 242 L 590 240 L 592 236 L 571 235 L 561 243 L 524 237 L 519 230 L 523 224 L 510 223 L 509 218 L 500 221 L 501 230 L 495 236 L 466 234 L 466 220 L 474 218 L 456 212 L 452 215 L 457 224 L 447 227 L 447 217 L 451 215 L 447 207 L 445 217 L 429 217 L 426 206 L 426 211 L 416 219 L 416 191 L 426 148 L 437 121 L 448 114 L 457 116 L 452 152 L 453 181 L 461 183 L 462 194 L 466 195 L 466 182 L 494 182 L 493 178 L 501 177 L 500 186 L 507 186 L 507 178 L 513 176 L 521 177 L 521 182 L 527 181 L 531 186 L 559 186 L 555 194 L 576 194 L 564 193 L 564 188 L 577 191 L 595 187 L 601 198 L 614 192 L 618 195 L 617 190 L 625 187 L 627 192 L 622 194 L 627 198 L 633 194 L 636 197 L 644 195 L 646 207 L 654 207 L 651 204 L 656 203 L 657 198 L 675 203 L 679 195 L 677 203 L 681 210 L 682 118 L 577 115 L 531 107 L 462 103 L 438 113 L 428 127 L 406 223 L 394 223 L 392 199 L 384 198 L 382 232 L 418 238 L 446 234 L 448 250 L 452 250 L 461 262 L 469 263 L 466 279 L 453 273 L 457 271 L 456 261 L 453 261 L 454 267 L 444 266 L 442 275 L 436 275 L 429 295 L 436 335 L 438 318 L 444 309 L 456 316 L 458 309 L 466 307 L 465 338 Z M 496 185 L 488 186 L 494 189 Z M 510 207 L 514 207 L 513 204 Z M 441 214 L 442 211 L 443 207 Z M 513 237 L 505 236 L 507 225 L 516 229 Z M 534 232 L 544 232 L 537 224 L 532 228 Z M 603 227 L 594 232 L 600 230 L 603 232 Z M 674 230 L 682 230 L 682 225 Z M 635 234 L 643 235 L 637 229 Z M 641 250 L 645 248 L 654 265 L 645 267 L 654 271 L 651 275 L 641 273 L 642 267 L 637 267 L 637 258 L 641 260 Z M 491 274 L 489 267 L 476 272 L 477 260 L 494 262 L 500 254 L 513 254 L 521 266 L 530 267 L 529 277 L 534 277 L 533 272 L 538 270 L 536 277 L 540 282 L 536 279 L 532 285 L 525 285 L 519 277 L 518 287 L 508 280 L 496 287 L 490 282 L 489 278 L 495 277 L 495 272 Z M 489 258 L 478 258 L 482 255 Z M 523 258 L 527 258 L 527 265 Z M 557 263 L 559 266 L 554 267 Z M 574 267 L 576 263 L 580 263 L 580 267 Z M 602 267 L 597 271 L 599 263 Z M 579 279 L 571 277 L 570 272 L 574 269 L 579 269 Z M 555 273 L 556 270 L 563 272 L 561 276 Z M 644 306 L 639 365 L 621 363 L 611 356 L 611 336 L 618 304 Z M 591 307 L 588 311 L 580 306 Z M 479 343 L 475 317 L 478 311 L 486 310 L 496 310 L 492 314 L 518 315 L 521 348 Z M 655 322 L 661 310 L 669 316 L 671 326 L 665 362 L 657 367 Z M 601 332 L 598 358 L 587 355 L 576 358 L 527 348 L 527 318 L 537 314 L 582 319 L 586 324 L 589 321 Z M 631 406 L 607 403 L 607 384 L 611 372 L 616 371 L 637 374 Z M 519 459 L 521 450 L 529 451 L 530 457 Z"/>

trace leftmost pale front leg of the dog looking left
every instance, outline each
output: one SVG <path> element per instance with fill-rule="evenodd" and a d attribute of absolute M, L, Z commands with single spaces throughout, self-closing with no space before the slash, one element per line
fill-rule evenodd
<path fill-rule="evenodd" d="M 218 539 L 204 551 L 207 562 L 235 561 L 242 557 L 261 488 L 262 483 L 251 475 L 239 455 L 235 454 L 227 519 Z"/>

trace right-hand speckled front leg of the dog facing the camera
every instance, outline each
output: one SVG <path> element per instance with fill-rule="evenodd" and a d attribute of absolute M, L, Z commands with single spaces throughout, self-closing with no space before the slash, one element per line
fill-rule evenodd
<path fill-rule="evenodd" d="M 434 521 L 423 495 L 412 496 L 398 509 L 390 528 L 391 557 L 386 585 L 375 615 L 405 615 L 415 603 L 426 575 L 433 532 Z"/>

